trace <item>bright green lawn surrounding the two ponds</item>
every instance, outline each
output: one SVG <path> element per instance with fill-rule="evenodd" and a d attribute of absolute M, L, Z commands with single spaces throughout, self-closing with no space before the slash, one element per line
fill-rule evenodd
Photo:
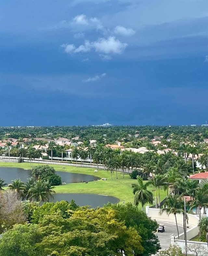
<path fill-rule="evenodd" d="M 37 166 L 38 164 L 33 164 Z M 16 167 L 23 169 L 31 169 L 30 163 L 12 163 L 12 162 L 0 162 L 0 167 Z M 56 171 L 70 172 L 70 173 L 84 173 L 98 176 L 99 178 L 107 178 L 107 181 L 92 181 L 88 184 L 85 183 L 73 183 L 66 184 L 62 186 L 56 186 L 55 191 L 57 193 L 93 193 L 100 195 L 114 196 L 120 199 L 120 201 L 125 200 L 125 202 L 134 202 L 134 195 L 132 193 L 131 184 L 136 182 L 130 178 L 128 174 L 125 174 L 123 179 L 123 174 L 118 172 L 118 179 L 116 179 L 116 173 L 113 173 L 113 180 L 111 180 L 110 172 L 99 170 L 97 173 L 94 172 L 95 168 L 81 168 L 75 166 L 65 166 L 62 169 L 61 165 L 53 165 Z M 149 190 L 154 190 L 153 187 L 149 187 Z M 155 191 L 152 191 L 155 195 Z M 160 189 L 161 201 L 165 198 L 166 192 Z M 141 207 L 141 206 L 140 206 Z"/>

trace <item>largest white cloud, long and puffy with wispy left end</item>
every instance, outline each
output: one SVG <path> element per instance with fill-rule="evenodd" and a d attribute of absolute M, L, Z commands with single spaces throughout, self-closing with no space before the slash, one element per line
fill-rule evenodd
<path fill-rule="evenodd" d="M 127 43 L 122 43 L 115 37 L 98 38 L 97 41 L 90 42 L 85 40 L 85 44 L 80 45 L 75 48 L 73 44 L 62 44 L 61 47 L 64 48 L 66 53 L 87 53 L 94 49 L 96 52 L 104 54 L 121 54 L 125 48 L 128 46 Z M 108 57 L 109 59 L 109 57 Z"/>

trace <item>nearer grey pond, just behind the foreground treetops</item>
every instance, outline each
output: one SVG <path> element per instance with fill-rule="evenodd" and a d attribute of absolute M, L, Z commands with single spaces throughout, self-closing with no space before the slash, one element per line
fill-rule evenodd
<path fill-rule="evenodd" d="M 107 203 L 119 203 L 119 199 L 113 196 L 96 195 L 96 194 L 54 194 L 54 199 L 50 202 L 66 200 L 71 202 L 73 199 L 79 206 L 90 205 L 92 208 L 102 207 Z"/>

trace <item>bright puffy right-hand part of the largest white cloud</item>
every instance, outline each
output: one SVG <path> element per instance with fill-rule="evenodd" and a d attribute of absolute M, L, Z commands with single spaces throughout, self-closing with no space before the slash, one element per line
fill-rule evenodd
<path fill-rule="evenodd" d="M 109 37 L 107 39 L 99 38 L 97 41 L 93 42 L 93 46 L 96 52 L 101 52 L 105 54 L 121 54 L 128 46 L 128 44 L 122 43 L 115 37 Z"/>

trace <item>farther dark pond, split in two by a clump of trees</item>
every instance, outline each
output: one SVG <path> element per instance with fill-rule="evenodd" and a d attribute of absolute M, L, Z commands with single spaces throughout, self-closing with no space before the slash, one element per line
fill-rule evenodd
<path fill-rule="evenodd" d="M 94 175 L 87 175 L 81 173 L 67 173 L 67 172 L 56 172 L 61 176 L 62 182 L 66 183 L 79 183 L 98 180 L 100 178 Z M 12 180 L 20 179 L 24 182 L 31 177 L 30 170 L 24 170 L 22 168 L 9 168 L 9 167 L 0 167 L 0 178 L 5 180 L 5 183 L 10 184 Z"/>

